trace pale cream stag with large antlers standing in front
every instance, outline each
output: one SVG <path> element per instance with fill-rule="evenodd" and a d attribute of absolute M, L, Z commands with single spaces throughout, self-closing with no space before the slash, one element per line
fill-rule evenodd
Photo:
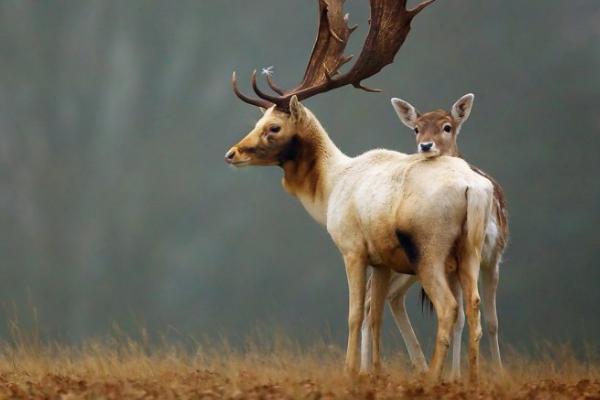
<path fill-rule="evenodd" d="M 356 62 L 344 55 L 355 27 L 348 25 L 342 0 L 319 0 L 319 27 L 304 78 L 283 90 L 272 76 L 272 93 L 251 76 L 257 97 L 241 92 L 232 75 L 235 95 L 263 110 L 254 128 L 225 154 L 236 167 L 279 166 L 282 186 L 308 214 L 325 227 L 340 251 L 348 281 L 348 341 L 345 369 L 359 370 L 367 267 L 371 285 L 373 363 L 380 360 L 380 329 L 391 271 L 415 275 L 431 299 L 438 320 L 435 350 L 427 377 L 441 378 L 458 303 L 450 288 L 448 260 L 459 276 L 469 320 L 469 361 L 473 380 L 479 368 L 481 323 L 477 279 L 484 233 L 491 213 L 493 187 L 456 157 L 408 155 L 370 150 L 344 154 L 302 101 L 352 85 L 378 91 L 362 81 L 393 62 L 410 23 L 434 0 L 406 8 L 405 0 L 370 0 L 370 26 Z"/>

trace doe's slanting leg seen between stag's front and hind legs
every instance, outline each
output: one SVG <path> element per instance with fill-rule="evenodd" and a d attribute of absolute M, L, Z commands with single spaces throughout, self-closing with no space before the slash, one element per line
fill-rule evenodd
<path fill-rule="evenodd" d="M 417 335 L 415 335 L 415 331 L 408 318 L 405 305 L 406 292 L 416 281 L 417 277 L 414 275 L 393 275 L 390 281 L 391 286 L 388 292 L 388 298 L 392 316 L 402 335 L 402 339 L 404 339 L 410 361 L 418 372 L 425 372 L 427 371 L 427 361 L 425 360 L 425 355 L 423 354 Z"/>

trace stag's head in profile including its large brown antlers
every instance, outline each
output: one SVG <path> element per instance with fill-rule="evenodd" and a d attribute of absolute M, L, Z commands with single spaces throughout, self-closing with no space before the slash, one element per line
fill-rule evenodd
<path fill-rule="evenodd" d="M 348 26 L 348 14 L 343 11 L 344 0 L 318 0 L 317 38 L 299 85 L 283 90 L 267 74 L 266 81 L 273 93 L 265 93 L 258 87 L 254 71 L 251 84 L 258 97 L 252 98 L 239 90 L 236 73 L 233 73 L 234 93 L 242 101 L 266 109 L 266 112 L 255 128 L 227 152 L 225 160 L 237 166 L 282 165 L 297 155 L 303 125 L 311 123 L 312 115 L 300 101 L 347 85 L 378 92 L 363 85 L 362 81 L 393 62 L 408 35 L 412 19 L 434 1 L 425 0 L 407 10 L 406 0 L 370 0 L 369 32 L 357 61 L 342 73 L 340 68 L 353 58 L 345 56 L 344 50 L 356 27 Z"/>

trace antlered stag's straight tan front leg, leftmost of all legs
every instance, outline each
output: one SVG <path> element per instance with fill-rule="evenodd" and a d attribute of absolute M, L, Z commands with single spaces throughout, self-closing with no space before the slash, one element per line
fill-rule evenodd
<path fill-rule="evenodd" d="M 358 254 L 344 255 L 348 278 L 348 348 L 346 371 L 358 372 L 360 328 L 364 317 L 366 267 L 365 257 Z"/>

